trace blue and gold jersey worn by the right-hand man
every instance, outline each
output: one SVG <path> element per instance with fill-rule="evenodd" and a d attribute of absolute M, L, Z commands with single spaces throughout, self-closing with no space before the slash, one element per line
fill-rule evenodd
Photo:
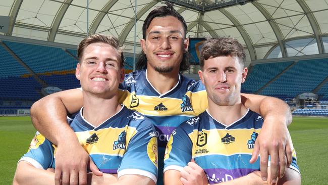
<path fill-rule="evenodd" d="M 259 170 L 259 159 L 254 164 L 249 160 L 263 121 L 260 115 L 248 110 L 229 126 L 216 121 L 207 111 L 183 122 L 170 137 L 164 171 L 181 171 L 194 159 L 213 184 Z M 294 149 L 290 168 L 299 172 Z"/>

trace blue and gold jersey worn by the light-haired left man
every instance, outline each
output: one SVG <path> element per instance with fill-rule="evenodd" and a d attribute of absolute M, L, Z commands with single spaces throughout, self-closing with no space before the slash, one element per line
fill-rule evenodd
<path fill-rule="evenodd" d="M 84 119 L 82 109 L 70 126 L 100 171 L 117 173 L 119 177 L 139 174 L 157 181 L 157 138 L 149 119 L 123 106 L 94 127 Z M 41 169 L 54 168 L 56 149 L 37 132 L 21 160 Z"/>

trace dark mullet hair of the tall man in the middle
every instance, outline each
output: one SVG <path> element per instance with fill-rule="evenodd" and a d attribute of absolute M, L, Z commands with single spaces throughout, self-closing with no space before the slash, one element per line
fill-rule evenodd
<path fill-rule="evenodd" d="M 174 7 L 171 3 L 165 2 L 165 4 L 166 4 L 166 6 L 157 7 L 156 9 L 152 10 L 148 14 L 146 20 L 143 22 L 143 25 L 142 25 L 142 38 L 143 39 L 146 39 L 147 28 L 149 27 L 149 25 L 151 24 L 151 21 L 154 18 L 167 17 L 167 16 L 173 16 L 181 22 L 181 24 L 183 26 L 183 30 L 184 30 L 183 37 L 186 38 L 187 24 L 186 24 L 185 19 L 174 9 Z M 190 67 L 189 58 L 190 58 L 190 54 L 189 54 L 189 52 L 186 52 L 183 55 L 183 58 L 182 58 L 182 61 L 180 64 L 180 69 L 179 69 L 180 72 L 183 72 L 183 71 L 186 71 L 187 69 L 189 69 L 189 67 Z M 147 68 L 147 58 L 143 52 L 141 52 L 139 54 L 136 68 L 138 70 Z"/>

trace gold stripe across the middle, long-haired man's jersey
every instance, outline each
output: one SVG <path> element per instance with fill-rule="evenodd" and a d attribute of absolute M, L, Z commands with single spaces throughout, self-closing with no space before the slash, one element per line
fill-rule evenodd
<path fill-rule="evenodd" d="M 187 91 L 186 95 L 191 101 L 192 111 L 181 110 L 182 99 L 160 98 L 136 95 L 135 92 L 119 89 L 119 102 L 126 107 L 136 110 L 144 115 L 172 116 L 172 115 L 198 115 L 205 111 L 208 106 L 206 91 Z M 162 104 L 164 107 L 157 105 Z"/>

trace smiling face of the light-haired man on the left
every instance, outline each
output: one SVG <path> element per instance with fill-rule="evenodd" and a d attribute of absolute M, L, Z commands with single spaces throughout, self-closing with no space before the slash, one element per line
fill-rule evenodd
<path fill-rule="evenodd" d="M 84 49 L 75 75 L 80 80 L 83 91 L 112 97 L 116 95 L 124 78 L 120 54 L 110 44 L 91 43 Z"/>

